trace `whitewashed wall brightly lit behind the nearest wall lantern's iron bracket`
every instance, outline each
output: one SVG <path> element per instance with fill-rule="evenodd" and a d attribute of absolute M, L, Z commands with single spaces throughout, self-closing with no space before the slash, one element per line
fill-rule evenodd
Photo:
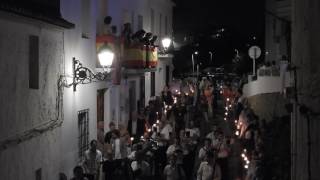
<path fill-rule="evenodd" d="M 96 67 L 96 20 L 98 16 L 97 1 L 91 0 L 87 6 L 88 20 L 82 19 L 81 2 L 78 0 L 62 0 L 62 17 L 75 24 L 75 29 L 64 32 L 65 71 L 72 75 L 72 58 L 80 60 L 82 64 L 95 71 Z M 88 38 L 83 38 L 83 23 L 87 29 Z M 71 79 L 68 79 L 71 82 Z M 64 125 L 62 127 L 61 172 L 72 175 L 72 169 L 79 163 L 78 158 L 78 117 L 80 110 L 89 109 L 89 141 L 97 138 L 97 90 L 109 88 L 105 94 L 105 103 L 117 102 L 117 88 L 110 87 L 110 82 L 96 82 L 78 85 L 77 91 L 65 89 L 64 94 Z M 117 106 L 117 104 L 114 104 Z M 105 116 L 111 116 L 112 109 L 106 107 Z M 115 118 L 119 115 L 116 113 Z M 109 118 L 108 118 L 109 119 Z"/>

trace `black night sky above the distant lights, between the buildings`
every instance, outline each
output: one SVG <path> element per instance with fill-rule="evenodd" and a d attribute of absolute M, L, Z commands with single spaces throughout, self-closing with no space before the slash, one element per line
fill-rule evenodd
<path fill-rule="evenodd" d="M 215 63 L 211 65 L 221 66 L 231 64 L 235 48 L 243 54 L 247 53 L 248 44 L 263 48 L 264 0 L 175 0 L 175 3 L 173 28 L 176 40 L 193 36 L 194 43 L 199 43 L 198 47 L 187 45 L 178 51 L 175 63 L 189 62 L 194 50 L 200 51 L 202 62 L 207 61 L 210 50 L 215 53 Z M 210 37 L 221 28 L 226 29 L 221 38 Z M 252 39 L 254 36 L 256 40 Z"/>

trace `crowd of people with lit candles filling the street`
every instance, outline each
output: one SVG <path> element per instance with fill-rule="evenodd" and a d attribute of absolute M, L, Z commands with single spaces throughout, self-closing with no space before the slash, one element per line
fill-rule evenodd
<path fill-rule="evenodd" d="M 233 115 L 228 120 L 235 119 L 234 130 L 239 131 L 250 161 L 246 179 L 257 179 L 263 158 L 262 130 L 241 90 L 234 89 L 228 84 L 219 88 L 207 78 L 186 81 L 177 89 L 165 87 L 146 107 L 132 112 L 126 127 L 116 128 L 111 122 L 102 150 L 92 140 L 82 166 L 74 168 L 73 179 L 228 180 L 234 137 L 226 135 L 221 120 L 214 118 L 218 98 L 230 107 Z"/>

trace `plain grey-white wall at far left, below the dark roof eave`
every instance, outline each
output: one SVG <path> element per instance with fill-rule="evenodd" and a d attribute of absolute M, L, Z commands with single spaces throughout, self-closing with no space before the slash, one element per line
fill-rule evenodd
<path fill-rule="evenodd" d="M 0 141 L 55 119 L 63 31 L 12 14 L 0 15 Z M 39 89 L 29 89 L 29 36 L 39 37 Z M 58 178 L 61 128 L 0 151 L 0 179 Z"/>

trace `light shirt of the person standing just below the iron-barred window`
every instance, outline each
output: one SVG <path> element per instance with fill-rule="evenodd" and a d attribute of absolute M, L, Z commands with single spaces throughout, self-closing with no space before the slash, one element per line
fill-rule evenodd
<path fill-rule="evenodd" d="M 84 154 L 84 170 L 88 174 L 97 174 L 102 162 L 102 153 L 99 150 L 92 152 L 90 149 Z"/>

